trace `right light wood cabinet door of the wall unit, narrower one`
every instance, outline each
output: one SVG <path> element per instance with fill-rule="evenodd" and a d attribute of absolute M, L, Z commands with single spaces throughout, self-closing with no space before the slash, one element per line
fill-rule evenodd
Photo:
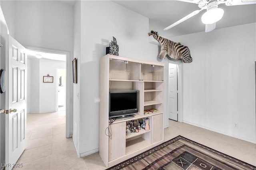
<path fill-rule="evenodd" d="M 152 144 L 163 139 L 163 114 L 152 116 Z"/>

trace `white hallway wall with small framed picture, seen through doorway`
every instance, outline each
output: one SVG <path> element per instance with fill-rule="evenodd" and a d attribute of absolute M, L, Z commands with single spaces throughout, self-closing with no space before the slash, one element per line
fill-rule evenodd
<path fill-rule="evenodd" d="M 56 111 L 58 77 L 56 68 L 65 68 L 65 61 L 28 59 L 28 113 Z M 53 76 L 53 83 L 44 83 L 43 76 Z"/>

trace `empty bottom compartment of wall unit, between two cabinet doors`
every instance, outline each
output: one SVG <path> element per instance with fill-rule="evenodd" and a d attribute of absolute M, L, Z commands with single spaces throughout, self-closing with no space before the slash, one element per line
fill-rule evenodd
<path fill-rule="evenodd" d="M 142 137 L 134 139 L 132 141 L 126 142 L 125 153 L 129 154 L 131 152 L 135 152 L 136 150 L 140 150 L 142 148 L 150 146 L 151 143 Z"/>

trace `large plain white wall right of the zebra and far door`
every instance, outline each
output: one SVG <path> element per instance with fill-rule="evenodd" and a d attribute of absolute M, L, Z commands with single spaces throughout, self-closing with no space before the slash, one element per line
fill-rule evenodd
<path fill-rule="evenodd" d="M 256 23 L 170 38 L 189 47 L 183 120 L 256 143 Z M 238 127 L 234 127 L 238 123 Z"/>

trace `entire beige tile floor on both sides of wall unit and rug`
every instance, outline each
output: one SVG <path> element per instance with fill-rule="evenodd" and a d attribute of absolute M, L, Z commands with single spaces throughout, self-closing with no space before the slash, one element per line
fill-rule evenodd
<path fill-rule="evenodd" d="M 182 135 L 256 166 L 256 144 L 169 120 L 164 141 Z M 65 111 L 27 115 L 27 148 L 17 163 L 23 170 L 103 170 L 99 152 L 78 158 L 72 138 L 65 138 Z"/>

